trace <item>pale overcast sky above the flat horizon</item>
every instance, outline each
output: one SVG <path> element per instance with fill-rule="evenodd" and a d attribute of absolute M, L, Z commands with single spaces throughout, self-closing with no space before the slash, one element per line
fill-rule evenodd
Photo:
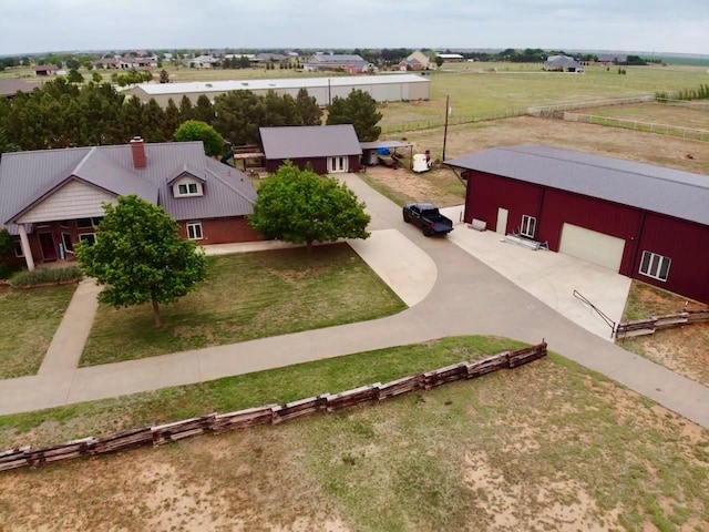
<path fill-rule="evenodd" d="M 0 55 L 174 48 L 709 54 L 709 0 L 2 0 Z"/>

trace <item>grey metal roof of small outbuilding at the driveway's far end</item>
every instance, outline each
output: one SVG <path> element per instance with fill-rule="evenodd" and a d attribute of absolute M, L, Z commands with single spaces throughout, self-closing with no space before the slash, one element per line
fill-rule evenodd
<path fill-rule="evenodd" d="M 266 158 L 361 155 L 352 124 L 260 127 Z"/>

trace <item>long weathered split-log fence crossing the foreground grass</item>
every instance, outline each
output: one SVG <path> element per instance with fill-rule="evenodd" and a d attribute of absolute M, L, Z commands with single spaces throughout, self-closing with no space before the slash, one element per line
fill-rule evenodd
<path fill-rule="evenodd" d="M 475 362 L 460 362 L 391 382 L 376 382 L 351 390 L 323 393 L 285 405 L 266 405 L 228 413 L 210 413 L 173 423 L 123 430 L 101 438 L 88 437 L 60 446 L 32 449 L 30 446 L 0 452 L 0 471 L 40 467 L 79 457 L 94 457 L 144 446 L 163 446 L 193 436 L 222 434 L 232 430 L 284 421 L 318 412 L 337 412 L 356 405 L 382 401 L 417 390 L 430 390 L 456 380 L 473 379 L 503 368 L 516 368 L 546 356 L 546 342 L 516 351 L 505 351 Z"/>

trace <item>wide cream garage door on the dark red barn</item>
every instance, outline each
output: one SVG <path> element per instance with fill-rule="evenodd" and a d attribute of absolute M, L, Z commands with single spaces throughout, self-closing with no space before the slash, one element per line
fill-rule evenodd
<path fill-rule="evenodd" d="M 620 269 L 625 241 L 586 229 L 577 225 L 564 224 L 559 253 L 580 258 L 614 272 Z"/>

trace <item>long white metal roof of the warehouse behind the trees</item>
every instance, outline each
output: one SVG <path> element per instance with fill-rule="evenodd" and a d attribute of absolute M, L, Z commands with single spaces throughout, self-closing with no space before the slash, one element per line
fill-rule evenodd
<path fill-rule="evenodd" d="M 417 74 L 400 75 L 336 75 L 332 78 L 284 78 L 274 80 L 229 80 L 199 81 L 187 83 L 141 83 L 132 90 L 140 89 L 148 95 L 189 94 L 195 92 L 230 92 L 239 90 L 275 91 L 281 89 L 317 89 L 327 86 L 383 85 L 388 83 L 431 83 Z"/>

